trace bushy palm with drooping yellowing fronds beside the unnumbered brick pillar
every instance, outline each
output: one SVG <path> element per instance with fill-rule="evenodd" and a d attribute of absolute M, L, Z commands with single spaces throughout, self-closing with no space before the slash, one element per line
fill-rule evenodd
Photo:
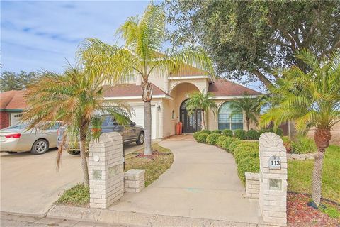
<path fill-rule="evenodd" d="M 95 112 L 111 114 L 119 123 L 126 123 L 130 110 L 124 104 L 107 102 L 103 97 L 103 74 L 89 74 L 84 70 L 67 67 L 63 74 L 43 71 L 39 82 L 28 87 L 26 101 L 29 108 L 23 113 L 23 121 L 30 122 L 30 128 L 42 121 L 62 121 L 67 126 L 67 135 L 79 139 L 81 167 L 84 185 L 89 186 L 89 172 L 86 158 L 91 118 Z M 57 167 L 60 165 L 58 151 Z"/>

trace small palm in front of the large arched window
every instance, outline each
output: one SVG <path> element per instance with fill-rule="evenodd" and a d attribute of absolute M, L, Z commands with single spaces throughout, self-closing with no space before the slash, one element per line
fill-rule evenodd
<path fill-rule="evenodd" d="M 257 117 L 261 109 L 261 98 L 253 98 L 249 94 L 244 93 L 242 99 L 231 101 L 230 108 L 233 114 L 244 113 L 246 118 L 246 131 L 249 131 L 249 123 L 253 121 L 257 123 Z"/>

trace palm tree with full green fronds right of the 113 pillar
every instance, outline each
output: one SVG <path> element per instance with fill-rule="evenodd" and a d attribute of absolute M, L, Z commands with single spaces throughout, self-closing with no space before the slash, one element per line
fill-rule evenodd
<path fill-rule="evenodd" d="M 338 52 L 319 59 L 312 52 L 301 50 L 297 57 L 308 66 L 308 72 L 299 67 L 283 71 L 283 78 L 271 88 L 278 104 L 261 116 L 261 125 L 294 121 L 300 132 L 314 126 L 317 154 L 311 205 L 317 207 L 321 201 L 324 152 L 329 146 L 331 128 L 340 121 L 340 55 Z"/>

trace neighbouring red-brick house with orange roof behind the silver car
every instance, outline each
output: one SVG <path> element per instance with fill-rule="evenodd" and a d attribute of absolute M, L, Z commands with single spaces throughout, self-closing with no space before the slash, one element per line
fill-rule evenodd
<path fill-rule="evenodd" d="M 0 129 L 16 125 L 26 109 L 25 91 L 8 91 L 0 93 Z"/>

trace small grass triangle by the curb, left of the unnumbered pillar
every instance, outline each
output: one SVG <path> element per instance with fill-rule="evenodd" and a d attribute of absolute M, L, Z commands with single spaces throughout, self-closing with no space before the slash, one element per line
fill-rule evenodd
<path fill-rule="evenodd" d="M 64 194 L 59 197 L 55 204 L 69 206 L 87 206 L 90 201 L 89 187 L 84 184 L 76 184 L 74 187 L 65 190 Z"/>

